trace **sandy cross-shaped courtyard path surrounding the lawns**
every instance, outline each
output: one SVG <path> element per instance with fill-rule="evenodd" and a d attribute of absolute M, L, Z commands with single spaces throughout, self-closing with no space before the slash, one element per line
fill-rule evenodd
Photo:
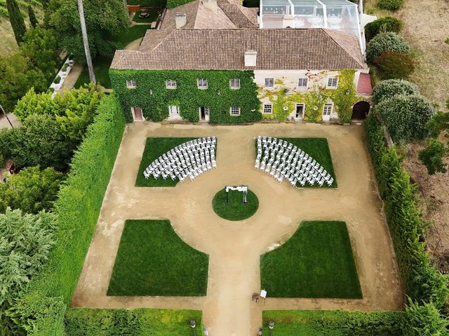
<path fill-rule="evenodd" d="M 297 189 L 254 169 L 255 137 L 325 137 L 337 189 Z M 147 137 L 217 137 L 217 169 L 175 188 L 138 188 L 135 179 Z M 199 309 L 210 336 L 253 336 L 262 309 L 403 309 L 394 250 L 364 145 L 363 127 L 313 124 L 248 126 L 134 123 L 126 132 L 72 307 Z M 246 221 L 218 217 L 212 199 L 227 185 L 246 184 L 259 209 Z M 109 279 L 126 219 L 167 218 L 177 234 L 209 255 L 206 297 L 109 297 Z M 301 221 L 345 221 L 362 300 L 273 298 L 260 290 L 260 255 L 282 244 Z"/>

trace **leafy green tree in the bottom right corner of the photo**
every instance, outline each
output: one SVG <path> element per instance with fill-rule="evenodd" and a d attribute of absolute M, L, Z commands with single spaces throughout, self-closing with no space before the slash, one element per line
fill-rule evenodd
<path fill-rule="evenodd" d="M 441 316 L 433 303 L 417 304 L 409 300 L 403 335 L 407 336 L 445 336 L 448 320 Z"/>

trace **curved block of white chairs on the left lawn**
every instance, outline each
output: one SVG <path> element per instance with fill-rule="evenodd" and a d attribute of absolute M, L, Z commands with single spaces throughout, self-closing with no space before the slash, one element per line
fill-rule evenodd
<path fill-rule="evenodd" d="M 192 181 L 199 175 L 217 167 L 215 162 L 215 148 L 217 139 L 215 137 L 199 138 L 187 141 L 167 153 L 159 156 L 143 172 L 145 179 L 153 176 L 158 179 L 168 176 L 175 181 L 183 182 L 187 177 Z"/>

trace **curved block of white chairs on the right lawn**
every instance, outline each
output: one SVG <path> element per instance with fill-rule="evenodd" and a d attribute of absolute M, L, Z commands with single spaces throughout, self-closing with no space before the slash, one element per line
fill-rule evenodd
<path fill-rule="evenodd" d="M 318 184 L 320 187 L 326 183 L 331 186 L 334 179 L 323 166 L 304 153 L 300 148 L 288 141 L 272 138 L 257 137 L 257 158 L 255 169 L 260 169 L 272 176 L 279 183 L 284 179 L 292 186 L 310 186 Z"/>

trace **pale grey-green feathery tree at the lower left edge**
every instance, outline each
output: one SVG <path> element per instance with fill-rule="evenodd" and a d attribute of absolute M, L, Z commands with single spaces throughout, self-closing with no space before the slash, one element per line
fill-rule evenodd
<path fill-rule="evenodd" d="M 8 208 L 0 214 L 0 307 L 10 306 L 43 267 L 55 222 L 56 216 L 45 211 L 33 215 Z"/>

